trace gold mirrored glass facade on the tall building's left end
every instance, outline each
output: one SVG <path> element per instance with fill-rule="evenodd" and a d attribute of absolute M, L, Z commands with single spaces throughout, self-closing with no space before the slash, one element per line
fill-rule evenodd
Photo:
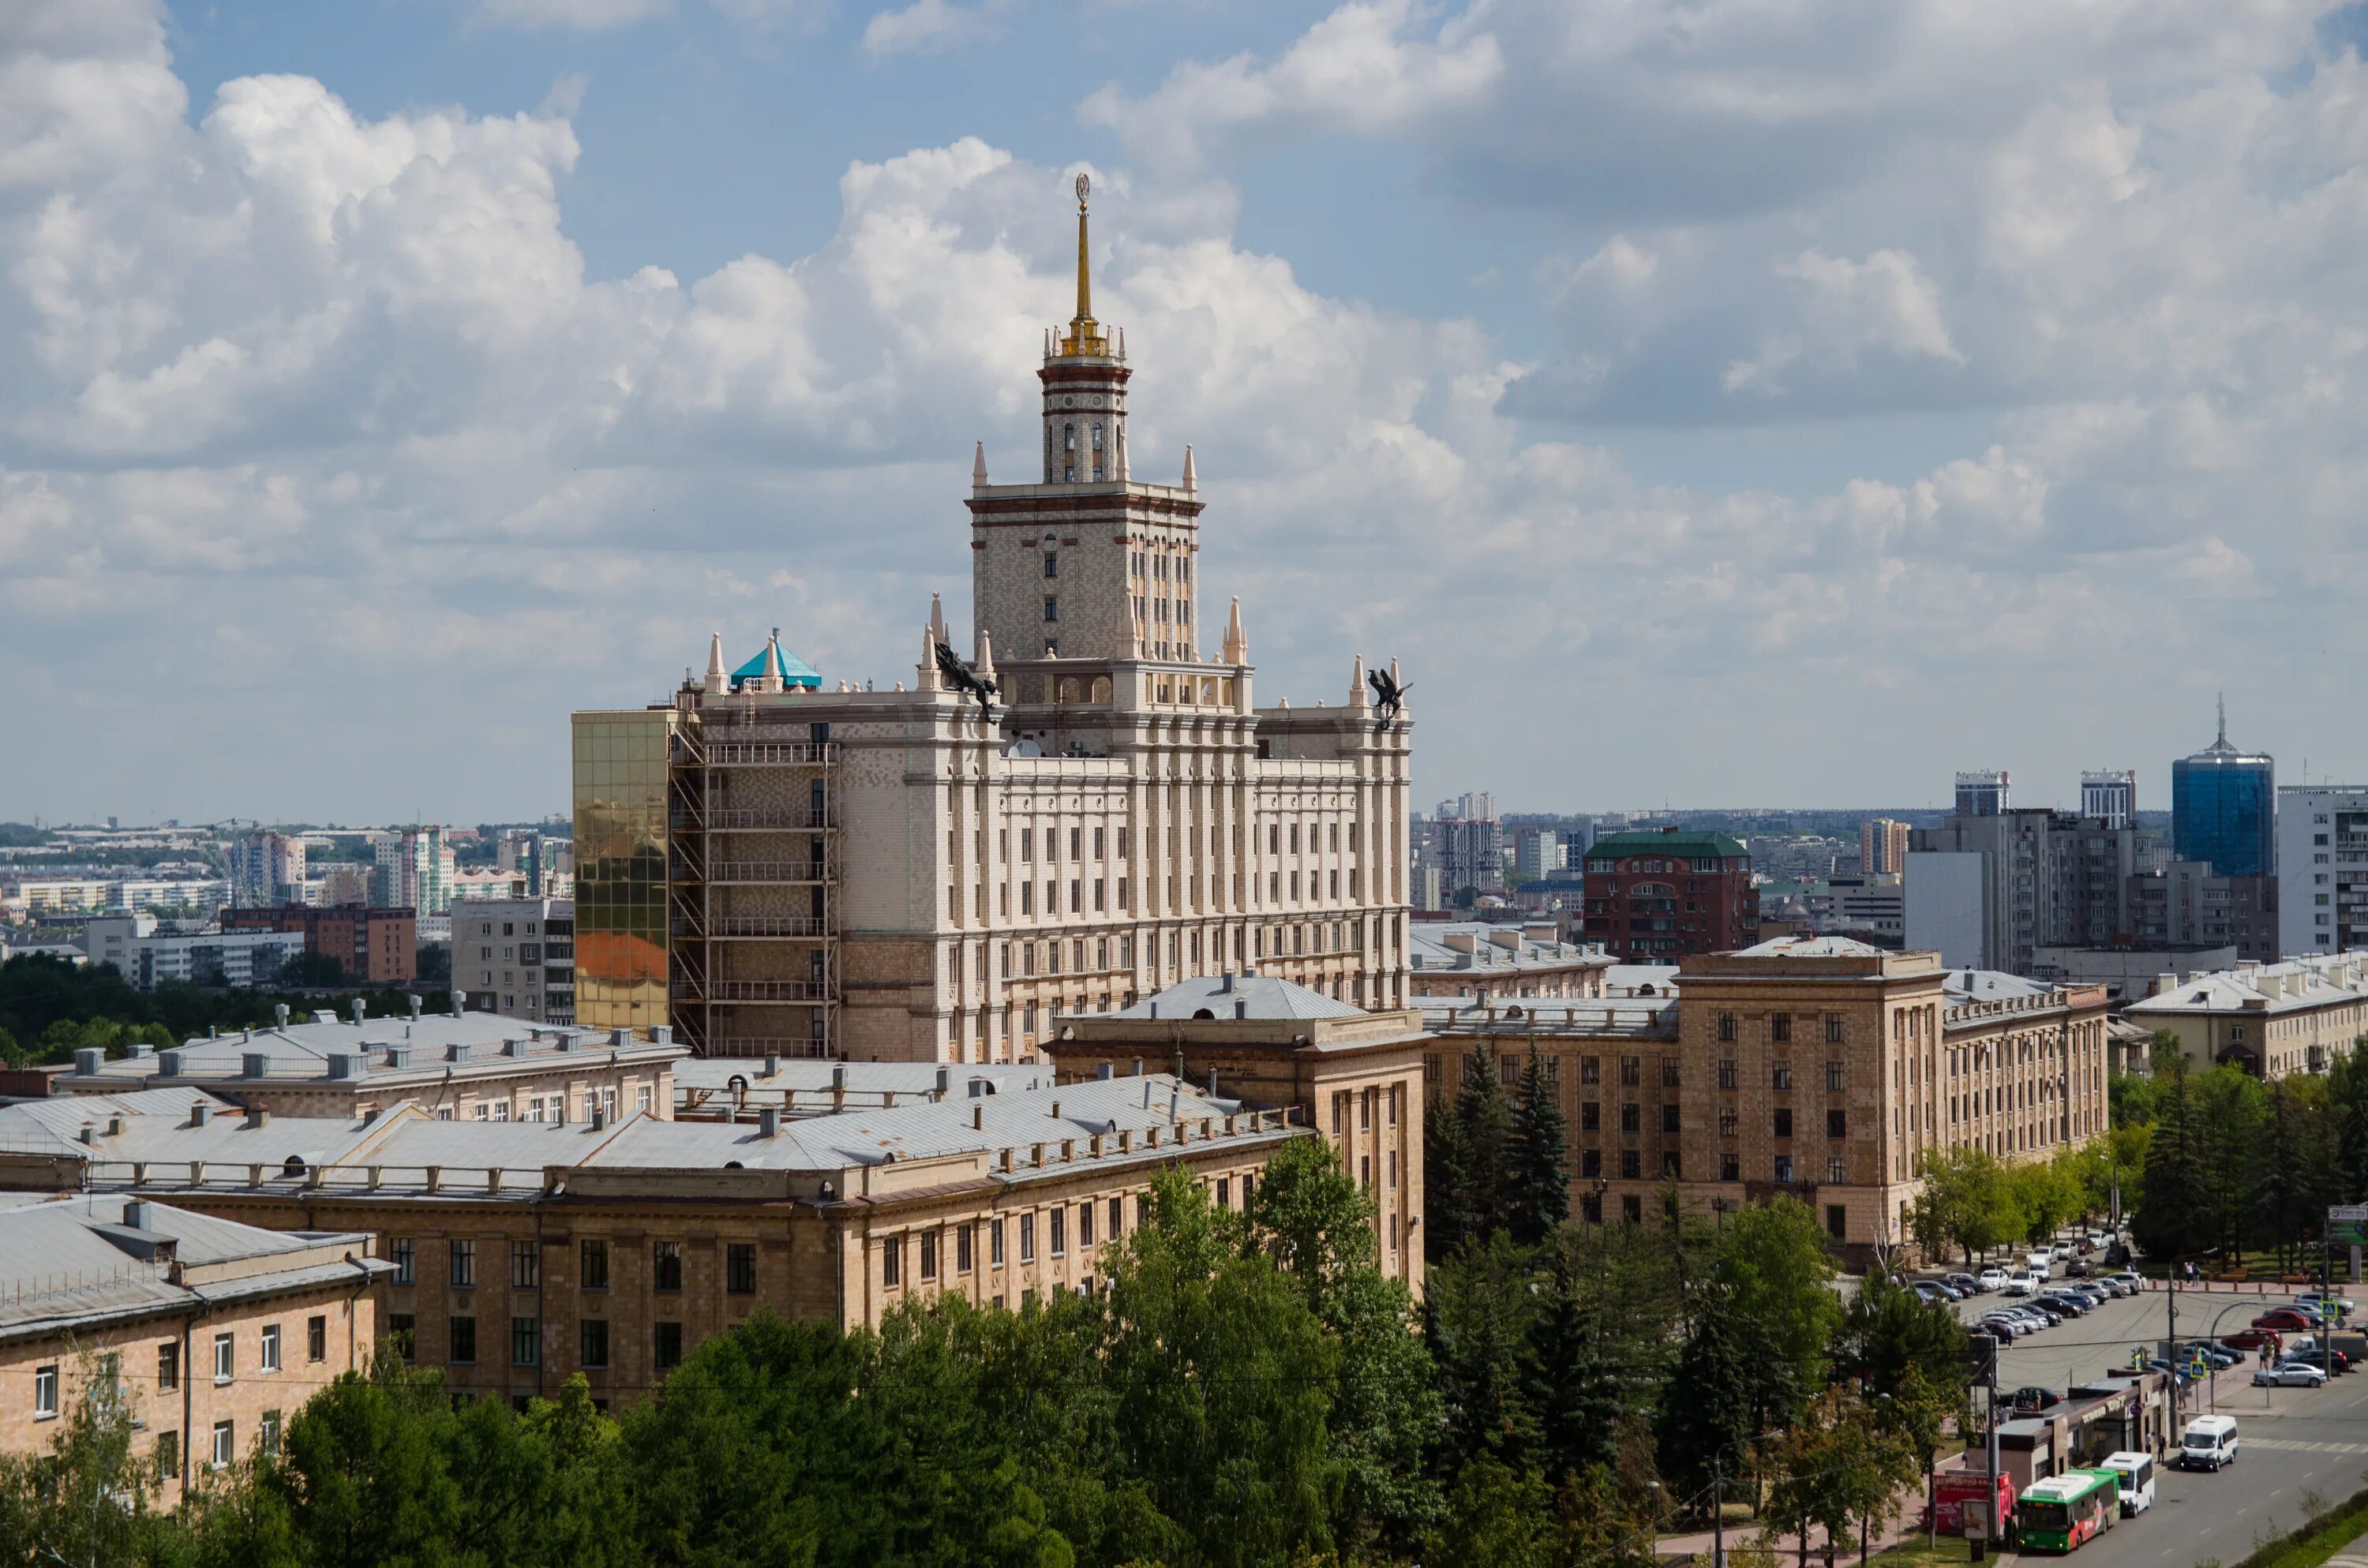
<path fill-rule="evenodd" d="M 665 1004 L 668 708 L 575 715 L 575 1021 L 649 1030 Z"/>

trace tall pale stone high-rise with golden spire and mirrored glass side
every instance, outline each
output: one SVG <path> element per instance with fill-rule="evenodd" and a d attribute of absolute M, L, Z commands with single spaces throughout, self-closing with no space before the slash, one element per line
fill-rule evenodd
<path fill-rule="evenodd" d="M 1238 602 L 1205 651 L 1191 448 L 1177 483 L 1134 476 L 1085 194 L 1040 474 L 973 462 L 971 656 L 933 604 L 888 692 L 826 689 L 774 632 L 739 668 L 718 637 L 663 703 L 575 715 L 580 1023 L 670 1023 L 703 1056 L 1032 1061 L 1056 1014 L 1198 973 L 1407 1002 L 1395 670 L 1359 656 L 1340 701 L 1260 708 Z"/>

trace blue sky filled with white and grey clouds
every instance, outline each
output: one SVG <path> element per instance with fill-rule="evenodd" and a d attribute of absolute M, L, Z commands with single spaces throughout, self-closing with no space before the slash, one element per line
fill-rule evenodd
<path fill-rule="evenodd" d="M 708 630 L 907 677 L 1068 178 L 1265 701 L 1418 796 L 2368 777 L 2314 0 L 9 0 L 0 817 L 566 803 Z M 1217 625 L 1212 618 L 1210 625 Z"/>

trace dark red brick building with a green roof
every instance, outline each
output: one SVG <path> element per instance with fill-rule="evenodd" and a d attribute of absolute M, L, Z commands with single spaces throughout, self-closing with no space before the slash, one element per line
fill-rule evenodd
<path fill-rule="evenodd" d="M 1752 857 L 1726 834 L 1665 827 L 1587 850 L 1587 940 L 1622 959 L 1733 952 L 1759 940 Z"/>

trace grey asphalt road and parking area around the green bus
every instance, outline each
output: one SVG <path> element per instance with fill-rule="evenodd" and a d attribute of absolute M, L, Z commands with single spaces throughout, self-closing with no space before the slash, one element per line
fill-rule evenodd
<path fill-rule="evenodd" d="M 2214 1317 L 2221 1334 L 2242 1329 L 2259 1315 L 2261 1300 L 2181 1291 L 2179 1338 L 2202 1338 Z M 2290 1296 L 2271 1293 L 2266 1300 Z M 1975 1296 L 1958 1310 L 1975 1317 L 1991 1303 L 1996 1296 Z M 2131 1345 L 2160 1341 L 2162 1326 L 2162 1291 L 2110 1300 L 2089 1317 L 2015 1341 L 1999 1355 L 1999 1386 L 2084 1383 L 2126 1362 Z M 2302 1492 L 2340 1502 L 2368 1485 L 2368 1371 L 2340 1376 L 2325 1388 L 2252 1388 L 2250 1376 L 2250 1362 L 2224 1371 L 2212 1390 L 2190 1388 L 2181 1407 L 2183 1414 L 2233 1414 L 2242 1445 L 2238 1461 L 2219 1473 L 2157 1471 L 2155 1509 L 2081 1547 L 2086 1568 L 2233 1563 L 2252 1551 L 2257 1537 L 2302 1523 Z"/>

